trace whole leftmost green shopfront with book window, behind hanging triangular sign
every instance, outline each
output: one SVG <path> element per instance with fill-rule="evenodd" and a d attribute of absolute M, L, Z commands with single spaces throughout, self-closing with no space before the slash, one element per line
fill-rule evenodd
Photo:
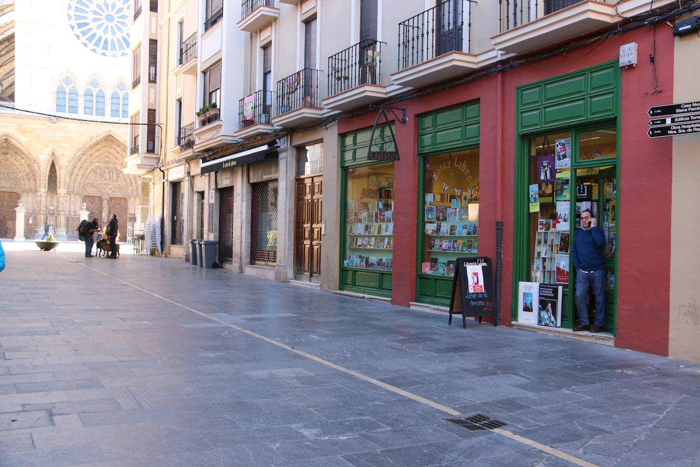
<path fill-rule="evenodd" d="M 377 129 L 380 137 L 384 130 Z M 341 139 L 340 289 L 391 297 L 394 162 L 367 160 L 371 132 Z"/>

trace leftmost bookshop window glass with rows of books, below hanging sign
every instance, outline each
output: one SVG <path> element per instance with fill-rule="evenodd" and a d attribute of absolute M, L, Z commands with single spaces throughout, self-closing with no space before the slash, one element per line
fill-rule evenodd
<path fill-rule="evenodd" d="M 394 166 L 386 162 L 346 169 L 343 265 L 391 271 Z"/>

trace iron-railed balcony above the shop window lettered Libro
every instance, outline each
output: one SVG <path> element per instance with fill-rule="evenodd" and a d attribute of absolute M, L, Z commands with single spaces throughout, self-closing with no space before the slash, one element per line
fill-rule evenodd
<path fill-rule="evenodd" d="M 465 74 L 471 55 L 473 0 L 447 0 L 398 25 L 398 71 L 394 83 L 420 87 Z"/>

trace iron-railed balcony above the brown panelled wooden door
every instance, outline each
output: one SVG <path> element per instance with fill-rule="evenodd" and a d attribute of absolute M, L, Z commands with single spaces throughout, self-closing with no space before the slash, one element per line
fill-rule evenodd
<path fill-rule="evenodd" d="M 318 70 L 304 68 L 277 81 L 275 125 L 293 127 L 321 116 Z"/>

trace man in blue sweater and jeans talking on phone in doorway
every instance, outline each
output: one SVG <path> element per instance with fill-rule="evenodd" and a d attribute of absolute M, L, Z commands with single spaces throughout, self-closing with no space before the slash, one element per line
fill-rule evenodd
<path fill-rule="evenodd" d="M 600 333 L 605 324 L 605 232 L 596 226 L 591 211 L 581 211 L 581 228 L 573 234 L 573 265 L 576 270 L 576 309 L 578 326 L 573 330 L 590 330 Z M 596 317 L 593 324 L 588 320 L 586 295 L 593 288 L 596 296 Z"/>

